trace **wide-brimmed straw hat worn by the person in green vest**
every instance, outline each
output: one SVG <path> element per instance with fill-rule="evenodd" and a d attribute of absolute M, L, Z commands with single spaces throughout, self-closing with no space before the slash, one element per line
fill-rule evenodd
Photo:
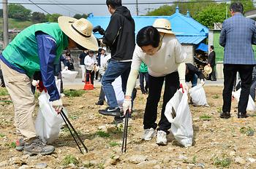
<path fill-rule="evenodd" d="M 59 27 L 70 39 L 88 50 L 98 50 L 97 39 L 92 34 L 93 25 L 84 18 L 61 16 L 58 18 Z"/>

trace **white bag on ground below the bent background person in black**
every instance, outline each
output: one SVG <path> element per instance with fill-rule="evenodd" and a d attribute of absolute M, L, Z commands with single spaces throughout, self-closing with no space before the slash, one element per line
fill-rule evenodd
<path fill-rule="evenodd" d="M 206 92 L 203 89 L 202 84 L 197 84 L 189 90 L 189 95 L 195 106 L 209 106 L 206 101 Z"/>

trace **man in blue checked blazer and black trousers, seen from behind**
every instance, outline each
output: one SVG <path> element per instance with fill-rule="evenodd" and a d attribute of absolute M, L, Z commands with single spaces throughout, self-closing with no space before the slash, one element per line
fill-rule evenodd
<path fill-rule="evenodd" d="M 223 106 L 220 118 L 230 118 L 233 83 L 238 71 L 241 77 L 241 95 L 238 102 L 238 118 L 246 118 L 249 88 L 252 83 L 252 68 L 256 64 L 252 44 L 256 44 L 255 21 L 242 15 L 241 2 L 230 4 L 231 17 L 224 20 L 219 44 L 224 50 Z"/>

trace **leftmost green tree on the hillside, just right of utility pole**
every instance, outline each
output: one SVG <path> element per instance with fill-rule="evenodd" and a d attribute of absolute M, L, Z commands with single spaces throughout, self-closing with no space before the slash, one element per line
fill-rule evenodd
<path fill-rule="evenodd" d="M 26 9 L 20 4 L 9 4 L 8 17 L 17 20 L 29 20 L 31 17 L 31 10 Z"/>

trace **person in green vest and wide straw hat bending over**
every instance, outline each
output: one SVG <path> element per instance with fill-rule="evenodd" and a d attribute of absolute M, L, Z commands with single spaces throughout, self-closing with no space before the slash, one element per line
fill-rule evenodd
<path fill-rule="evenodd" d="M 64 16 L 59 17 L 58 23 L 37 23 L 21 31 L 0 55 L 4 82 L 15 108 L 15 127 L 23 136 L 16 142 L 20 151 L 24 149 L 28 154 L 42 155 L 54 151 L 54 146 L 46 145 L 35 131 L 35 102 L 30 78 L 36 71 L 41 71 L 49 101 L 60 112 L 62 101 L 55 83 L 53 63 L 59 63 L 66 47 L 97 50 L 92 28 L 89 20 Z"/>

